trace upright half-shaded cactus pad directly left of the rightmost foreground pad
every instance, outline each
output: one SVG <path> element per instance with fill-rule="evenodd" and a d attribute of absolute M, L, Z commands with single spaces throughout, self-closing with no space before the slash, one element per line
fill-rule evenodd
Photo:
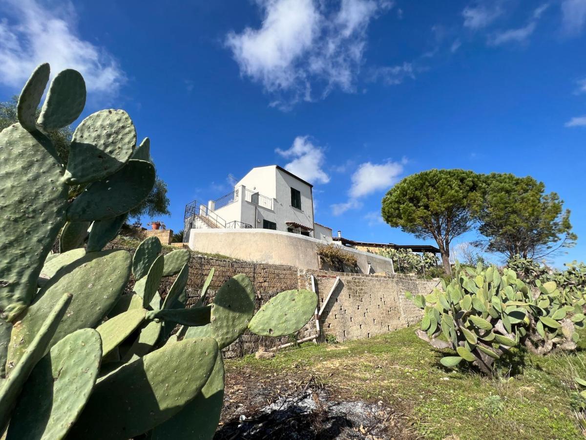
<path fill-rule="evenodd" d="M 253 313 L 254 287 L 250 278 L 243 273 L 231 277 L 218 289 L 212 304 L 212 336 L 220 349 L 240 336 Z"/>

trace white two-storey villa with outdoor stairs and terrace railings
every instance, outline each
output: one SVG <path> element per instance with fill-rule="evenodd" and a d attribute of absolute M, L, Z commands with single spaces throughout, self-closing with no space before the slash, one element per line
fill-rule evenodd
<path fill-rule="evenodd" d="M 185 207 L 184 241 L 192 229 L 272 229 L 332 242 L 332 229 L 314 221 L 313 185 L 278 165 L 255 167 L 234 191 Z"/>

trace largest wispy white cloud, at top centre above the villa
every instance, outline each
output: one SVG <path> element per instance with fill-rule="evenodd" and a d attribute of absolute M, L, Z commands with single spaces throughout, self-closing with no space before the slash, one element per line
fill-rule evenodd
<path fill-rule="evenodd" d="M 363 62 L 370 21 L 391 3 L 340 0 L 337 11 L 318 0 L 257 0 L 260 28 L 230 32 L 226 45 L 240 73 L 275 94 L 273 105 L 287 107 L 312 100 L 312 85 L 321 96 L 338 87 L 354 92 Z"/>

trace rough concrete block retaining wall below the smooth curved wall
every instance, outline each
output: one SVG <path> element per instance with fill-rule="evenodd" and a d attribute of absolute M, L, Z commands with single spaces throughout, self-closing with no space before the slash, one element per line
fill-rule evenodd
<path fill-rule="evenodd" d="M 125 249 L 134 252 L 134 249 Z M 170 250 L 163 251 L 163 253 L 167 252 Z M 238 273 L 244 273 L 254 285 L 255 310 L 284 290 L 311 290 L 312 274 L 315 276 L 319 307 L 321 307 L 336 276 L 340 276 L 341 283 L 333 293 L 321 319 L 323 332 L 333 334 L 338 341 L 372 337 L 417 323 L 421 319 L 422 312 L 405 298 L 405 292 L 427 295 L 439 284 L 438 280 L 421 280 L 409 275 L 329 272 L 298 269 L 294 266 L 207 258 L 192 254 L 187 287 L 189 305 L 199 299 L 200 290 L 212 268 L 215 268 L 215 272 L 209 289 L 210 300 L 227 279 Z M 163 281 L 159 289 L 163 297 L 172 282 L 173 277 Z M 315 320 L 312 318 L 296 337 L 301 339 L 313 334 L 316 334 L 316 327 Z M 261 337 L 245 331 L 239 340 L 224 349 L 224 356 L 239 357 L 255 353 L 260 346 L 271 348 L 292 340 L 294 340 L 293 337 L 289 336 Z"/>

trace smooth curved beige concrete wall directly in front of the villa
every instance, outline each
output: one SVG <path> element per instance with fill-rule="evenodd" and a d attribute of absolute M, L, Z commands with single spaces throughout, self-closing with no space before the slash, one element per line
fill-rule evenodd
<path fill-rule="evenodd" d="M 269 229 L 192 229 L 189 234 L 189 247 L 193 251 L 302 269 L 320 269 L 316 251 L 318 245 L 324 244 L 312 237 Z M 351 248 L 344 251 L 356 256 L 362 273 L 394 273 L 389 258 Z"/>

